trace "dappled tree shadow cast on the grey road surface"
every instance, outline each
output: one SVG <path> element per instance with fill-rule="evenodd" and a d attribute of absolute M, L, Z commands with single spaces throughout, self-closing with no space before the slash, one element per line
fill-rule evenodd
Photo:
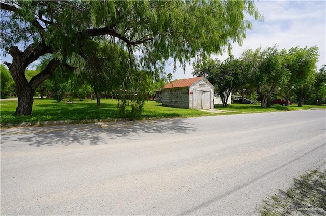
<path fill-rule="evenodd" d="M 188 134 L 195 128 L 187 119 L 159 119 L 148 121 L 110 122 L 85 125 L 61 125 L 43 127 L 26 127 L 12 129 L 2 133 L 2 147 L 10 143 L 30 146 L 68 146 L 78 145 L 112 145 L 128 143 L 132 140 L 143 141 L 146 136 L 155 134 Z M 128 141 L 130 140 L 130 141 Z"/>

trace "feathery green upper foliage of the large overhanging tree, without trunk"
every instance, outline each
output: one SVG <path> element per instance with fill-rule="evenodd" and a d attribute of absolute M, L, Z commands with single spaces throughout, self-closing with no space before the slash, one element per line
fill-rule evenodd
<path fill-rule="evenodd" d="M 4 1 L 12 4 L 10 1 Z M 2 48 L 34 40 L 54 48 L 60 59 L 87 45 L 87 29 L 107 27 L 109 35 L 143 54 L 146 66 L 173 57 L 181 64 L 197 54 L 221 53 L 231 42 L 241 44 L 251 23 L 262 16 L 253 1 L 20 1 L 14 13 L 2 10 Z M 35 20 L 35 17 L 41 18 Z M 37 24 L 41 23 L 41 26 Z M 46 26 L 46 28 L 42 28 Z M 129 43 L 132 42 L 132 43 Z M 133 45 L 140 45 L 134 47 Z M 144 45 L 144 46 L 143 46 Z"/>

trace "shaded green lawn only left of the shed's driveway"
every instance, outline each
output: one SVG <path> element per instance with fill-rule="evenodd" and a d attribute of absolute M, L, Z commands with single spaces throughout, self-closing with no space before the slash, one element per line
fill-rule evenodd
<path fill-rule="evenodd" d="M 13 112 L 17 101 L 0 101 L 2 110 L 0 112 L 1 124 L 19 124 L 31 122 L 43 124 L 45 121 L 64 121 L 70 123 L 116 121 L 129 119 L 129 114 L 119 115 L 116 99 L 102 99 L 100 107 L 94 101 L 74 101 L 71 104 L 53 102 L 51 99 L 34 99 L 34 109 L 30 116 L 15 116 Z M 173 117 L 195 117 L 211 115 L 210 113 L 192 110 L 160 106 L 154 101 L 144 103 L 144 111 L 138 119 L 143 118 L 173 118 Z M 130 112 L 130 107 L 127 107 Z M 136 119 L 135 119 L 136 120 Z"/>

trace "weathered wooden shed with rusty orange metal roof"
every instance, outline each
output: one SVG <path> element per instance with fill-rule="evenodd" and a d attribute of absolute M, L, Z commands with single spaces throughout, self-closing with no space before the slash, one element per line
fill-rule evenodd
<path fill-rule="evenodd" d="M 173 81 L 162 89 L 162 105 L 189 109 L 214 109 L 214 86 L 205 77 Z"/>

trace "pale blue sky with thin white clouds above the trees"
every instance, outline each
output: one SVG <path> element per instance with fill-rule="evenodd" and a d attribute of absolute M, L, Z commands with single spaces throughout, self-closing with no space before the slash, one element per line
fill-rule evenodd
<path fill-rule="evenodd" d="M 233 45 L 232 54 L 240 57 L 247 49 L 255 50 L 260 46 L 264 49 L 278 45 L 279 50 L 289 50 L 299 46 L 319 48 L 319 61 L 317 69 L 326 64 L 326 1 L 255 1 L 259 13 L 264 16 L 264 21 L 251 20 L 252 30 L 247 30 L 247 37 L 243 40 L 242 47 Z M 228 56 L 211 56 L 224 60 Z M 170 61 L 173 63 L 173 61 Z M 173 64 L 165 67 L 167 73 L 172 73 Z M 193 67 L 189 64 L 184 73 L 177 68 L 172 73 L 173 79 L 192 78 Z"/>

